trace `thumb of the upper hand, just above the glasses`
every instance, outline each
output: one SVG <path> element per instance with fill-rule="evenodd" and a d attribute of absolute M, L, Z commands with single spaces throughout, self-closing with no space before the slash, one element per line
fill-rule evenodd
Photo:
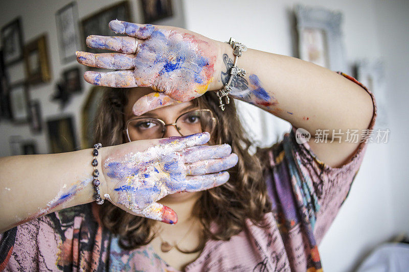
<path fill-rule="evenodd" d="M 176 103 L 180 102 L 162 92 L 151 92 L 139 98 L 137 102 L 133 104 L 132 111 L 136 116 L 140 116 L 148 111 Z"/>

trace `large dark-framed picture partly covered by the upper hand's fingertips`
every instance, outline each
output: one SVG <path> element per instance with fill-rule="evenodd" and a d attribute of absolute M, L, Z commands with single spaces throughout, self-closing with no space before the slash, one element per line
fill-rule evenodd
<path fill-rule="evenodd" d="M 115 5 L 104 8 L 81 20 L 82 39 L 84 48 L 91 53 L 103 53 L 108 51 L 87 48 L 86 37 L 89 35 L 111 36 L 113 32 L 109 29 L 108 23 L 111 20 L 130 21 L 130 7 L 128 1 L 122 1 Z M 118 35 L 118 34 L 116 34 Z"/>

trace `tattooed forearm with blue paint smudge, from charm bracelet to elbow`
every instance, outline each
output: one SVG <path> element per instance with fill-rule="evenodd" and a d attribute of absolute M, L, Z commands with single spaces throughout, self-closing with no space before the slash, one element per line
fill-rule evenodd
<path fill-rule="evenodd" d="M 224 46 L 224 70 L 217 88 L 228 80 L 234 61 L 231 45 Z M 222 51 L 223 52 L 223 51 Z M 237 66 L 246 76 L 235 77 L 231 96 L 256 105 L 312 136 L 317 129 L 366 129 L 373 114 L 370 95 L 334 71 L 297 58 L 247 50 Z M 241 78 L 241 79 L 240 79 Z"/>

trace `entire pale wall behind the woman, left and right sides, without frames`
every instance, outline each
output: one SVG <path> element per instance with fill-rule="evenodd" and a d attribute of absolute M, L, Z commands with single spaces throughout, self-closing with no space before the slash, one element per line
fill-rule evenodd
<path fill-rule="evenodd" d="M 55 26 L 55 12 L 69 3 L 60 1 L 3 1 L 0 10 L 0 26 L 16 16 L 22 16 L 25 42 L 43 32 L 48 33 L 50 60 L 53 80 L 49 84 L 30 88 L 33 99 L 41 101 L 43 118 L 59 114 L 73 114 L 79 133 L 79 110 L 90 85 L 74 96 L 63 112 L 58 104 L 50 102 L 54 85 L 62 70 L 76 65 L 76 62 L 62 65 L 59 59 Z M 79 17 L 85 17 L 95 10 L 117 1 L 78 0 Z M 301 1 L 300 1 L 301 2 Z M 132 17 L 140 22 L 139 1 L 131 0 Z M 293 32 L 291 9 L 298 2 L 276 1 L 175 1 L 176 18 L 161 24 L 184 26 L 210 38 L 225 41 L 231 36 L 258 50 L 293 56 Z M 409 183 L 408 168 L 403 154 L 408 145 L 408 108 L 405 107 L 409 93 L 409 2 L 405 0 L 345 0 L 345 1 L 302 1 L 305 5 L 324 6 L 344 14 L 344 41 L 349 64 L 362 58 L 370 60 L 382 57 L 386 64 L 388 101 L 390 110 L 391 140 L 388 144 L 370 144 L 366 158 L 352 186 L 348 200 L 340 210 L 329 232 L 320 245 L 320 255 L 326 271 L 351 270 L 357 261 L 376 244 L 409 229 Z M 185 13 L 181 13 L 181 9 Z M 22 63 L 21 63 L 22 64 Z M 349 72 L 349 71 L 347 71 Z M 22 65 L 9 70 L 9 76 L 16 82 L 23 78 Z M 242 105 L 240 105 L 242 107 Z M 253 135 L 265 137 L 264 144 L 275 140 L 275 130 L 281 134 L 288 124 L 274 116 L 261 115 L 251 107 L 242 107 L 248 118 L 263 118 L 270 125 L 270 131 Z M 77 134 L 78 134 L 77 133 Z M 0 156 L 10 155 L 9 136 L 21 135 L 24 139 L 35 139 L 40 153 L 49 152 L 45 131 L 32 135 L 27 125 L 16 126 L 0 121 Z M 79 138 L 78 138 L 79 143 Z"/>

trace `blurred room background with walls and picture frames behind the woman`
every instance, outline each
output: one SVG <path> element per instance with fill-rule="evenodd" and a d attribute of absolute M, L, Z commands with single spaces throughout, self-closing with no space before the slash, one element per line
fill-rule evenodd
<path fill-rule="evenodd" d="M 379 245 L 407 237 L 409 1 L 2 1 L 0 156 L 89 147 L 102 89 L 83 80 L 75 51 L 87 50 L 87 35 L 112 35 L 107 25 L 115 18 L 181 27 L 219 41 L 234 37 L 357 78 L 375 94 L 375 129 L 389 133 L 368 146 L 319 246 L 323 267 L 356 270 Z M 257 145 L 271 145 L 289 131 L 286 121 L 236 103 Z"/>

